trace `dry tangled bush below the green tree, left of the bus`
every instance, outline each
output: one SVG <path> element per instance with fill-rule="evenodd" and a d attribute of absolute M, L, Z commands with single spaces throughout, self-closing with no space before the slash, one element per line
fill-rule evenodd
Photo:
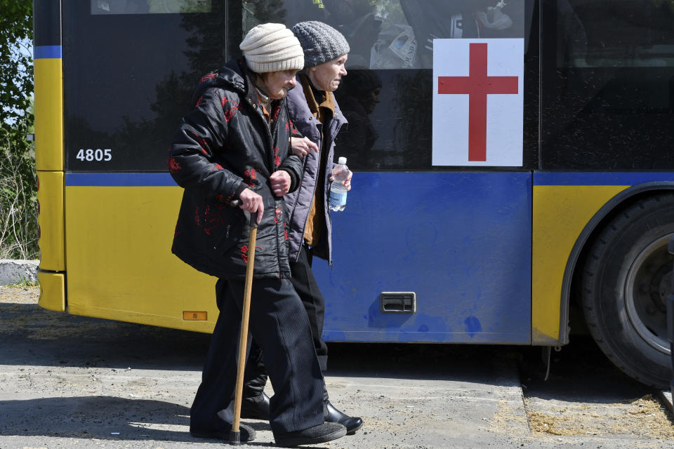
<path fill-rule="evenodd" d="M 0 126 L 0 259 L 39 256 L 35 151 L 26 140 L 31 125 L 27 118 Z"/>

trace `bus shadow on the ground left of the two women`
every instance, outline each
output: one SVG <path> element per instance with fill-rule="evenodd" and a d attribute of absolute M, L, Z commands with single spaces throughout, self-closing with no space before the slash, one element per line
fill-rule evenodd
<path fill-rule="evenodd" d="M 210 335 L 0 302 L 0 363 L 201 370 Z"/>

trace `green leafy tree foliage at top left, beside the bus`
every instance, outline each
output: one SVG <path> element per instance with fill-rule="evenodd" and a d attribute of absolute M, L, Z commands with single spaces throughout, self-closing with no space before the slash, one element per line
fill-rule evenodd
<path fill-rule="evenodd" d="M 29 112 L 33 93 L 32 0 L 0 0 L 0 126 L 16 121 L 32 124 Z"/>

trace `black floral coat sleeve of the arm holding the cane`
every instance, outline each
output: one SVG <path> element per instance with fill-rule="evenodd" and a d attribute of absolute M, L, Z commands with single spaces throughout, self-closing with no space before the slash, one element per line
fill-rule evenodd
<path fill-rule="evenodd" d="M 180 124 L 171 142 L 169 172 L 185 189 L 199 189 L 207 198 L 231 201 L 247 187 L 241 177 L 213 162 L 227 140 L 227 121 L 217 89 L 209 89 Z"/>

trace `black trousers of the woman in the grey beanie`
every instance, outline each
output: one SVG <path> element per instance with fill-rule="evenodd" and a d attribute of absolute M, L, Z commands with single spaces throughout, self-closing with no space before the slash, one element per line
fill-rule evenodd
<path fill-rule="evenodd" d="M 328 347 L 323 341 L 323 321 L 325 316 L 325 300 L 318 288 L 318 283 L 311 270 L 313 255 L 310 248 L 303 245 L 297 262 L 291 262 L 293 288 L 302 300 L 306 315 L 309 319 L 311 337 L 316 349 L 316 355 L 321 370 L 326 370 L 328 361 Z M 244 375 L 244 398 L 258 396 L 265 389 L 267 372 L 263 351 L 256 342 L 251 344 L 251 352 L 246 362 L 246 374 Z M 323 391 L 324 401 L 328 400 L 328 391 Z"/>

